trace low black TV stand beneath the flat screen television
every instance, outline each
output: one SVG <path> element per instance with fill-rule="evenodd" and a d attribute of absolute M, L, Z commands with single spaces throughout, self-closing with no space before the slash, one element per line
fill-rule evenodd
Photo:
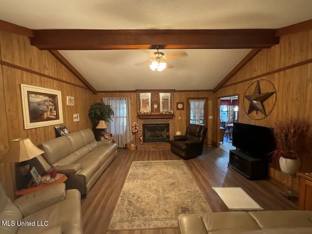
<path fill-rule="evenodd" d="M 263 157 L 254 158 L 240 150 L 230 150 L 228 165 L 247 179 L 266 179 L 269 171 L 269 161 Z"/>

